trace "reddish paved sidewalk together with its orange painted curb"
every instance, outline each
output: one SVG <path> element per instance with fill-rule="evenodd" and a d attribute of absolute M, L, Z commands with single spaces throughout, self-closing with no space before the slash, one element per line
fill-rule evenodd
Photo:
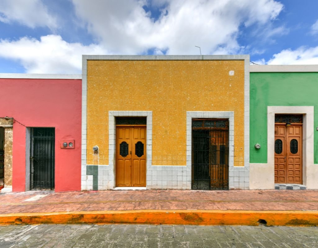
<path fill-rule="evenodd" d="M 0 224 L 318 225 L 316 190 L 0 194 Z"/>

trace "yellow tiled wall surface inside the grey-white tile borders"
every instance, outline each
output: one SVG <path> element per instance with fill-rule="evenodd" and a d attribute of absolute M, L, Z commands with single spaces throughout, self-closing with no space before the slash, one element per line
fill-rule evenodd
<path fill-rule="evenodd" d="M 88 60 L 87 164 L 94 145 L 108 164 L 108 111 L 153 111 L 153 165 L 186 165 L 186 111 L 234 111 L 234 166 L 244 165 L 243 60 Z"/>

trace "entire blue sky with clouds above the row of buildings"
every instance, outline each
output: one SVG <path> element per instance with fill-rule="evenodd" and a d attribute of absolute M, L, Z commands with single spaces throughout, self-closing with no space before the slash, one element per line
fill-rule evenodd
<path fill-rule="evenodd" d="M 316 0 L 0 0 L 0 73 L 81 73 L 82 54 L 250 54 L 318 64 Z"/>

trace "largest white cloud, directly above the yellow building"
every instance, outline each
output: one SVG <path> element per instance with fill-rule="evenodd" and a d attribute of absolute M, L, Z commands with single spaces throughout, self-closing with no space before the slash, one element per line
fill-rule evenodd
<path fill-rule="evenodd" d="M 146 0 L 73 0 L 88 31 L 116 54 L 141 54 L 148 49 L 167 54 L 236 53 L 239 26 L 266 24 L 283 5 L 274 0 L 156 0 L 164 7 L 155 21 L 142 6 Z M 166 12 L 167 11 L 167 12 Z"/>

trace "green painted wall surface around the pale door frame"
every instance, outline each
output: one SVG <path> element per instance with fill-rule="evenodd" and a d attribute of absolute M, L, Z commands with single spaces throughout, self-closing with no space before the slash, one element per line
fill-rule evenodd
<path fill-rule="evenodd" d="M 251 72 L 250 163 L 267 163 L 267 106 L 314 106 L 318 126 L 318 72 Z M 314 132 L 314 163 L 318 163 Z M 259 143 L 260 149 L 254 145 Z M 274 151 L 273 151 L 274 152 Z"/>

